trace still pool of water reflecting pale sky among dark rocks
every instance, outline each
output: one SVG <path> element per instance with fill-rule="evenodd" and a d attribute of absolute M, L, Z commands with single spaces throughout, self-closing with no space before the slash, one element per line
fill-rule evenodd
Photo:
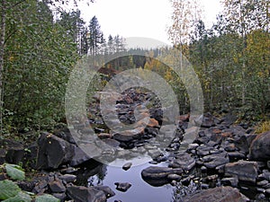
<path fill-rule="evenodd" d="M 89 162 L 89 164 L 90 163 L 90 167 L 86 166 L 79 171 L 78 184 L 87 186 L 109 186 L 115 192 L 115 196 L 109 198 L 107 200 L 108 202 L 114 202 L 114 200 L 121 200 L 122 202 L 175 201 L 173 199 L 175 187 L 170 184 L 166 184 L 162 187 L 153 187 L 142 180 L 140 172 L 148 166 L 153 166 L 153 164 L 146 162 L 144 164 L 131 166 L 130 170 L 124 171 L 121 167 L 104 165 L 98 162 Z M 166 164 L 159 163 L 157 166 L 166 166 Z M 126 192 L 121 192 L 115 189 L 115 182 L 129 182 L 131 187 Z"/>

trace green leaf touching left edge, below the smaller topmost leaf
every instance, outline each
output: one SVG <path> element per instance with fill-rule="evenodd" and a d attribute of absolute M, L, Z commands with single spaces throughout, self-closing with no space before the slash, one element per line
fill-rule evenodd
<path fill-rule="evenodd" d="M 21 189 L 11 180 L 0 181 L 0 199 L 14 198 Z"/>

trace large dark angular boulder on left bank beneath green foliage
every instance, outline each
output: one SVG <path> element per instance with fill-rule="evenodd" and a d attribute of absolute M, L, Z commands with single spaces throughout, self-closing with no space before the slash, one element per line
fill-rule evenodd
<path fill-rule="evenodd" d="M 47 132 L 41 133 L 38 145 L 37 169 L 57 169 L 74 155 L 74 145 Z"/>

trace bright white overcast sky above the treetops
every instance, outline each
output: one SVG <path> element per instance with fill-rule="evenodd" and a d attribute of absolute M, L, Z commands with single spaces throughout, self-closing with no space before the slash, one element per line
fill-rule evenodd
<path fill-rule="evenodd" d="M 210 26 L 220 12 L 220 0 L 199 0 L 204 10 L 204 22 Z M 173 13 L 169 0 L 95 0 L 78 8 L 85 22 L 95 15 L 105 38 L 119 34 L 124 38 L 144 37 L 170 44 L 167 29 Z"/>

